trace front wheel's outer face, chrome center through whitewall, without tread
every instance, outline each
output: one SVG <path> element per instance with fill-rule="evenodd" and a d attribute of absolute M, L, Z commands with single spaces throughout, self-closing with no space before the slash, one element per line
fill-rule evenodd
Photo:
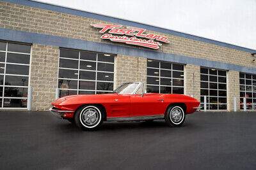
<path fill-rule="evenodd" d="M 100 123 L 101 113 L 95 106 L 85 107 L 80 114 L 80 122 L 84 127 L 93 128 Z"/>

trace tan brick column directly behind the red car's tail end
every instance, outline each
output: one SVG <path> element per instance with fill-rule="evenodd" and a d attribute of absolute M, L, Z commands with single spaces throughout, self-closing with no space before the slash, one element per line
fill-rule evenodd
<path fill-rule="evenodd" d="M 200 101 L 200 66 L 184 66 L 184 94 Z"/>

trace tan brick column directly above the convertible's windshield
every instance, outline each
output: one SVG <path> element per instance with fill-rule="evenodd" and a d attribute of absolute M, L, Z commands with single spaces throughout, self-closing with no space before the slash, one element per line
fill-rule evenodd
<path fill-rule="evenodd" d="M 115 58 L 114 89 L 127 82 L 147 83 L 147 59 L 128 55 Z"/>

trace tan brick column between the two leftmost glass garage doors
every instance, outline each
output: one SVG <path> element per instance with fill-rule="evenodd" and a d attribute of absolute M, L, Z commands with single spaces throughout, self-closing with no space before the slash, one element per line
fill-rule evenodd
<path fill-rule="evenodd" d="M 33 111 L 49 110 L 58 84 L 58 46 L 33 44 L 30 85 Z"/>

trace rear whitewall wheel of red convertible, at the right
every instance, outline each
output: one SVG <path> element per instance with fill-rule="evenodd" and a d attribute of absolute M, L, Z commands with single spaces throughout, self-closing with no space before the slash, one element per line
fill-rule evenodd
<path fill-rule="evenodd" d="M 179 127 L 184 123 L 185 113 L 180 106 L 169 106 L 165 113 L 165 122 L 172 127 Z"/>

